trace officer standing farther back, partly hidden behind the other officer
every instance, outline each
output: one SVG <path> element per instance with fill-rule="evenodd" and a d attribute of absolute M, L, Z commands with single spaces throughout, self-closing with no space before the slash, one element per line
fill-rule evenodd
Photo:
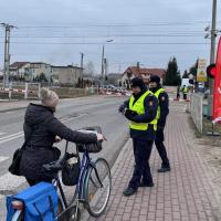
<path fill-rule="evenodd" d="M 159 103 L 159 119 L 157 124 L 157 134 L 155 138 L 155 145 L 159 152 L 159 156 L 162 160 L 161 168 L 158 169 L 158 172 L 170 171 L 170 164 L 167 157 L 167 150 L 164 145 L 165 136 L 164 129 L 167 120 L 167 115 L 169 114 L 169 98 L 167 92 L 161 88 L 160 77 L 157 75 L 151 75 L 149 80 L 149 90 L 155 94 L 158 98 Z"/>

